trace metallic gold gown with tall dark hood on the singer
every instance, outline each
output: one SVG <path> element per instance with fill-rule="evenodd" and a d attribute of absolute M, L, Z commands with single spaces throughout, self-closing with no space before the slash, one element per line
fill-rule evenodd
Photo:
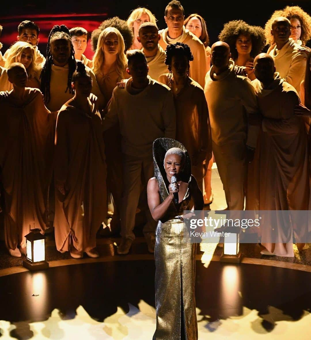
<path fill-rule="evenodd" d="M 173 141 L 168 138 L 159 139 Z M 153 146 L 153 159 L 154 173 L 159 183 L 161 201 L 163 202 L 168 195 L 168 181 L 163 173 L 165 152 L 171 147 L 185 149 L 179 142 L 177 144 L 172 144 L 172 142 L 166 144 L 162 151 L 159 150 L 161 147 L 163 145 L 158 145 L 157 148 L 155 148 L 155 145 Z M 163 155 L 162 158 L 161 155 Z M 158 222 L 155 232 L 157 327 L 153 340 L 198 339 L 194 294 L 196 244 L 190 243 L 190 240 L 187 242 L 189 232 L 184 222 L 178 218 L 179 215 L 183 214 L 183 210 L 191 210 L 194 205 L 191 188 L 195 179 L 190 175 L 190 159 L 187 153 L 186 156 L 184 178 L 182 179 L 183 182 L 189 183 L 186 194 L 178 205 L 175 205 L 173 201 L 171 202 L 165 216 Z"/>

